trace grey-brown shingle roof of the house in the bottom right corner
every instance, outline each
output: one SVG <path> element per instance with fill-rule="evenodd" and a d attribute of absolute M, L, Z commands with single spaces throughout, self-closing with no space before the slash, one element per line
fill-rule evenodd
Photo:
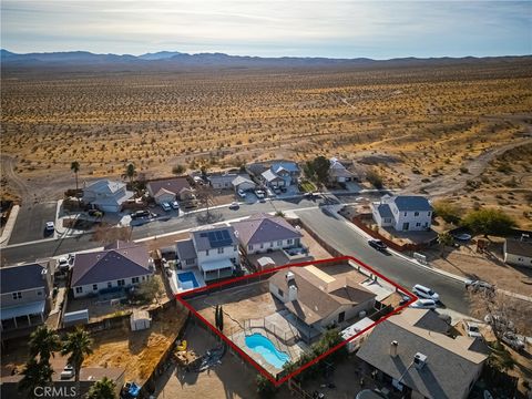
<path fill-rule="evenodd" d="M 393 340 L 398 342 L 396 357 L 389 355 Z M 471 342 L 469 337 L 452 339 L 411 326 L 402 315 L 395 315 L 375 327 L 357 356 L 427 398 L 461 398 L 477 378 L 475 366 L 487 358 L 468 350 Z M 417 352 L 427 356 L 421 369 L 412 365 Z"/>

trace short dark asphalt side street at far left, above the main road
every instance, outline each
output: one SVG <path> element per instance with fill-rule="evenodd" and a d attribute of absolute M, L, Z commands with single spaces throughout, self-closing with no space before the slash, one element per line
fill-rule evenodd
<path fill-rule="evenodd" d="M 22 204 L 9 244 L 19 244 L 45 238 L 47 222 L 55 222 L 57 202 Z M 50 234 L 50 237 L 52 235 Z"/>

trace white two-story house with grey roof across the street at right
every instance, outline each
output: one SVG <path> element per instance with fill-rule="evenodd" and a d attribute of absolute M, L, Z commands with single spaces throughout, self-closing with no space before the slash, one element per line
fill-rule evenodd
<path fill-rule="evenodd" d="M 398 232 L 427 231 L 432 224 L 432 205 L 420 195 L 385 195 L 371 204 L 375 222 Z"/>

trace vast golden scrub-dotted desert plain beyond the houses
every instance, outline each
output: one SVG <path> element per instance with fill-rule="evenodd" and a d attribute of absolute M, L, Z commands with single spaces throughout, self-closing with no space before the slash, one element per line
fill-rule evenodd
<path fill-rule="evenodd" d="M 532 142 L 530 57 L 372 69 L 4 69 L 1 83 L 2 186 L 33 201 L 73 186 L 72 161 L 83 182 L 120 176 L 129 162 L 150 177 L 177 164 L 317 155 L 358 161 L 388 187 L 452 195 Z M 524 174 L 505 180 L 530 193 Z M 504 196 L 521 215 L 523 195 Z"/>

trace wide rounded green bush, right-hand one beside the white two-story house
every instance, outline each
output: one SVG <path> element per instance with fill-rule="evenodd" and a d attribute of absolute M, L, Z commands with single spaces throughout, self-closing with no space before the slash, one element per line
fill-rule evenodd
<path fill-rule="evenodd" d="M 468 213 L 462 219 L 462 226 L 484 236 L 505 236 L 515 227 L 515 222 L 502 211 L 480 208 Z"/>

